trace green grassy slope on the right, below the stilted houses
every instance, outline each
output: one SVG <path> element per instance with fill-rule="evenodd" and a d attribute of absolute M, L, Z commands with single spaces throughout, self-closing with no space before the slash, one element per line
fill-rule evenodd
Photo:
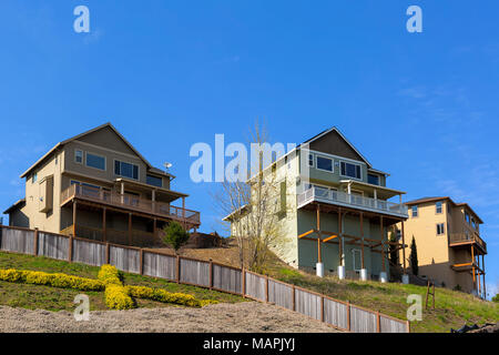
<path fill-rule="evenodd" d="M 480 301 L 469 294 L 447 288 L 435 288 L 435 310 L 425 310 L 426 287 L 398 283 L 340 281 L 327 276 L 319 278 L 296 270 L 275 265 L 269 275 L 297 286 L 313 290 L 333 298 L 379 311 L 406 320 L 407 296 L 422 297 L 422 321 L 411 322 L 414 332 L 450 332 L 465 323 L 483 324 L 499 322 L 499 304 Z"/>

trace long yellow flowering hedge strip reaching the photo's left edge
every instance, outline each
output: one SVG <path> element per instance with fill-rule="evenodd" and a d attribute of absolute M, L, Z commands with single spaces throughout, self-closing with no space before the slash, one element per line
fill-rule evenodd
<path fill-rule="evenodd" d="M 0 270 L 0 280 L 22 282 L 33 285 L 45 285 L 80 291 L 103 291 L 104 284 L 99 280 L 84 278 L 61 273 L 49 274 L 40 271 Z"/>

